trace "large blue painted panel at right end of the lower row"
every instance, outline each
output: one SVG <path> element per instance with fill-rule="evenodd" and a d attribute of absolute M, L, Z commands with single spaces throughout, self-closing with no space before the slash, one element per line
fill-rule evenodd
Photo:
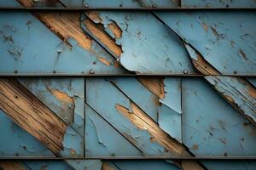
<path fill-rule="evenodd" d="M 256 127 L 203 79 L 183 79 L 183 143 L 195 156 L 255 156 Z"/>

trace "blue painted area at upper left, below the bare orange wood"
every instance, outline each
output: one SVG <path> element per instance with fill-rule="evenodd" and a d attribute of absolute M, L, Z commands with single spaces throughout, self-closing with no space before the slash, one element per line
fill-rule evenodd
<path fill-rule="evenodd" d="M 125 73 L 113 66 L 115 59 L 96 42 L 86 50 L 68 39 L 71 48 L 30 13 L 1 12 L 0 36 L 1 74 Z M 100 62 L 99 57 L 110 65 Z"/>

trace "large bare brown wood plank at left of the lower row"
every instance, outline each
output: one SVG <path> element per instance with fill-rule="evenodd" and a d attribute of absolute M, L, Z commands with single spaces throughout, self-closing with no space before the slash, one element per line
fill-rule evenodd
<path fill-rule="evenodd" d="M 0 78 L 0 109 L 55 155 L 63 150 L 67 124 L 14 78 Z"/>

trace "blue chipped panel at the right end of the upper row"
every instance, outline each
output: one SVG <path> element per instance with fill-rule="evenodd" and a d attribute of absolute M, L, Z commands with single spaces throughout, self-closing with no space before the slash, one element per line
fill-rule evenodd
<path fill-rule="evenodd" d="M 254 13 L 159 12 L 157 15 L 217 71 L 230 75 L 255 74 Z"/>

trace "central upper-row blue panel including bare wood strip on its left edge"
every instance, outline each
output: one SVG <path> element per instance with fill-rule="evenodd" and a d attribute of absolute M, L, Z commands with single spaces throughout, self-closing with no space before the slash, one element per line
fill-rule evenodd
<path fill-rule="evenodd" d="M 183 74 L 186 70 L 194 73 L 178 37 L 168 31 L 153 14 L 98 11 L 86 13 L 82 20 L 84 31 L 102 43 L 115 58 L 119 58 L 119 63 L 128 71 Z M 115 31 L 108 28 L 113 23 Z M 151 29 L 148 29 L 148 24 Z M 117 31 L 118 37 L 115 36 Z M 148 62 L 148 59 L 153 62 Z"/>

